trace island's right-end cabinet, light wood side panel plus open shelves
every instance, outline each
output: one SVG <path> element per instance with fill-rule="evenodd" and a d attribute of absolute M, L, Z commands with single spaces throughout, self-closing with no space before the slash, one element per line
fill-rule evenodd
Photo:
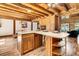
<path fill-rule="evenodd" d="M 59 44 L 62 39 L 46 37 L 46 54 L 48 56 L 62 56 L 65 55 L 65 52 L 61 51 L 61 48 L 65 47 L 65 44 Z M 64 42 L 65 43 L 65 42 Z"/>

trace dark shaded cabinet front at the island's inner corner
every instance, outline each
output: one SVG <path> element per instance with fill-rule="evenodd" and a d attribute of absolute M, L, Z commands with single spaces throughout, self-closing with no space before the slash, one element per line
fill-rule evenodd
<path fill-rule="evenodd" d="M 34 48 L 42 46 L 42 35 L 35 34 L 34 36 Z"/>

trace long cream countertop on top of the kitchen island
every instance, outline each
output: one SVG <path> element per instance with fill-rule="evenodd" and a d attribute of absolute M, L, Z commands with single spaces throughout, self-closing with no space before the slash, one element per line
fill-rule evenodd
<path fill-rule="evenodd" d="M 41 35 L 44 35 L 44 36 L 50 36 L 50 37 L 54 37 L 54 38 L 65 38 L 69 35 L 66 32 L 56 33 L 56 32 L 45 32 L 45 31 L 20 31 L 20 32 L 18 32 L 18 35 L 30 34 L 30 33 L 41 34 Z"/>

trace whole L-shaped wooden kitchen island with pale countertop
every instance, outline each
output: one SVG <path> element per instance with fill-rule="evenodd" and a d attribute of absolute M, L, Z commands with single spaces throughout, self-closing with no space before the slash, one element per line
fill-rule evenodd
<path fill-rule="evenodd" d="M 45 31 L 22 31 L 18 32 L 18 50 L 22 54 L 42 46 L 42 37 L 45 38 L 45 54 L 47 56 L 62 55 L 60 48 L 65 46 L 66 54 L 66 37 L 68 33 L 64 32 L 45 32 Z M 65 45 L 59 42 L 65 39 Z M 27 44 L 28 43 L 28 44 Z"/>

